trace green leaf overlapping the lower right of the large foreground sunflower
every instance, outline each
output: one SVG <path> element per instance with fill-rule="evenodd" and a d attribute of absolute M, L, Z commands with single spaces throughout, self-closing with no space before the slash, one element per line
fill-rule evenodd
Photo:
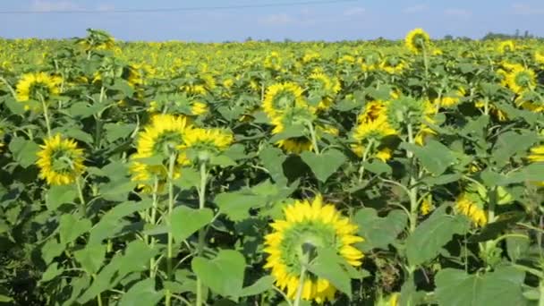
<path fill-rule="evenodd" d="M 352 281 L 348 273 L 342 267 L 341 261 L 335 250 L 319 249 L 318 256 L 313 259 L 308 269 L 311 273 L 327 279 L 338 290 L 352 297 Z"/>

